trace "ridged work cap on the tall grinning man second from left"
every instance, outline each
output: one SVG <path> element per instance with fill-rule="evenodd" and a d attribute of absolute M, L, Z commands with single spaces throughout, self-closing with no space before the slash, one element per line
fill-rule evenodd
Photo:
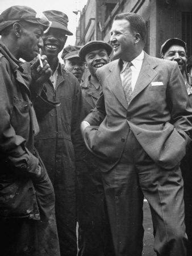
<path fill-rule="evenodd" d="M 68 16 L 61 11 L 44 11 L 43 14 L 52 22 L 52 28 L 60 28 L 65 31 L 66 35 L 73 35 L 72 32 L 68 30 Z"/>

